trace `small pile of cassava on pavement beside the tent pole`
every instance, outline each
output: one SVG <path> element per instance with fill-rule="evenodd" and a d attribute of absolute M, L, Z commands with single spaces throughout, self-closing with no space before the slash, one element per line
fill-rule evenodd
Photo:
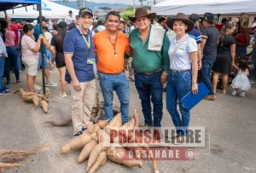
<path fill-rule="evenodd" d="M 14 91 L 14 94 L 18 92 L 21 94 L 22 101 L 25 101 L 26 103 L 34 103 L 35 107 L 38 107 L 38 104 L 40 104 L 40 107 L 43 108 L 44 112 L 48 112 L 49 89 L 46 89 L 45 95 L 36 92 L 26 92 L 24 89 L 17 89 Z"/>

